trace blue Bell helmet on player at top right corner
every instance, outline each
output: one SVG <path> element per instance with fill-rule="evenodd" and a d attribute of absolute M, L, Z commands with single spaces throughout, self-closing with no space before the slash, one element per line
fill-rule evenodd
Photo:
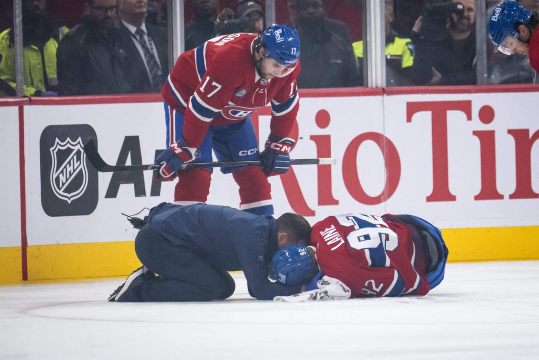
<path fill-rule="evenodd" d="M 530 21 L 531 11 L 524 8 L 516 1 L 505 1 L 499 3 L 490 15 L 488 21 L 488 34 L 498 50 L 510 55 L 512 49 L 508 42 L 519 37 L 515 31 L 515 23 L 527 24 Z"/>

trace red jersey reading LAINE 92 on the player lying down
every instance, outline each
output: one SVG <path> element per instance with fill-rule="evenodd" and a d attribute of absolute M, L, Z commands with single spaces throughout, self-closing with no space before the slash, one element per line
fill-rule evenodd
<path fill-rule="evenodd" d="M 421 241 L 393 215 L 329 216 L 313 226 L 311 244 L 323 274 L 345 283 L 351 297 L 429 292 Z"/>

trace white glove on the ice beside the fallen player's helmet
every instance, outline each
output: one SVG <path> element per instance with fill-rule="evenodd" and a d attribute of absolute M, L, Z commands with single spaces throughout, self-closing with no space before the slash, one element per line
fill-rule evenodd
<path fill-rule="evenodd" d="M 290 296 L 275 296 L 275 302 L 306 302 L 320 300 L 345 300 L 350 297 L 350 288 L 334 277 L 323 276 L 317 282 L 318 289 Z"/>

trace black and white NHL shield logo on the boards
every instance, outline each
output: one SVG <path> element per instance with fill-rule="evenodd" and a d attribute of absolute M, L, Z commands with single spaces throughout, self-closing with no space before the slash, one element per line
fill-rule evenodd
<path fill-rule="evenodd" d="M 52 156 L 51 187 L 59 199 L 71 203 L 80 198 L 88 186 L 88 169 L 86 167 L 86 154 L 82 140 L 77 141 L 58 138 L 50 148 Z"/>

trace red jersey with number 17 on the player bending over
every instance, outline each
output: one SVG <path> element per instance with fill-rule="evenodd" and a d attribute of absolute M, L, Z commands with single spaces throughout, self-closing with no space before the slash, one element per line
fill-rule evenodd
<path fill-rule="evenodd" d="M 300 64 L 286 77 L 262 79 L 253 60 L 257 37 L 219 36 L 178 57 L 161 93 L 169 106 L 185 114 L 187 145 L 198 147 L 210 125 L 236 123 L 270 102 L 271 133 L 289 135 L 299 107 Z"/>

